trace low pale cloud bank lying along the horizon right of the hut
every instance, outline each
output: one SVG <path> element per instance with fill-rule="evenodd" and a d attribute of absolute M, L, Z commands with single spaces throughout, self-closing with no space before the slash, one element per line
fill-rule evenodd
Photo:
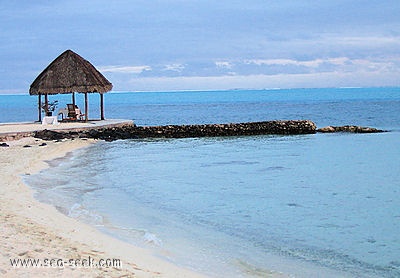
<path fill-rule="evenodd" d="M 252 74 L 223 76 L 138 77 L 126 81 L 121 91 L 225 90 L 400 86 L 397 71 L 322 72 L 302 74 Z"/>

